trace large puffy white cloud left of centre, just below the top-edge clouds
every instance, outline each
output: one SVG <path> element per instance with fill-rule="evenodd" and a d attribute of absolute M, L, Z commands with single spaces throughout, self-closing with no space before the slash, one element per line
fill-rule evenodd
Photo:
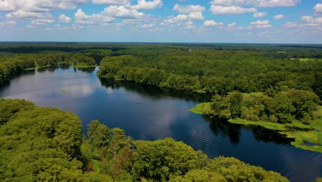
<path fill-rule="evenodd" d="M 118 17 L 123 19 L 140 19 L 144 16 L 143 12 L 127 9 L 125 6 L 109 6 L 104 9 L 102 14 L 109 17 Z"/>

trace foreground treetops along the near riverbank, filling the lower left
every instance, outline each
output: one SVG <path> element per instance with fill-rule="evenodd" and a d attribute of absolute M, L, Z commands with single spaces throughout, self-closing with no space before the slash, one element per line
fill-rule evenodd
<path fill-rule="evenodd" d="M 235 159 L 208 159 L 173 139 L 134 141 L 71 112 L 0 99 L 1 181 L 288 181 Z"/>

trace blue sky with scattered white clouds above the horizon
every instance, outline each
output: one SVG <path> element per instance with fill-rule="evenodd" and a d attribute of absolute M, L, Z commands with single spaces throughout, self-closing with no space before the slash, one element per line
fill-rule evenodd
<path fill-rule="evenodd" d="M 322 43 L 322 0 L 0 0 L 0 41 Z"/>

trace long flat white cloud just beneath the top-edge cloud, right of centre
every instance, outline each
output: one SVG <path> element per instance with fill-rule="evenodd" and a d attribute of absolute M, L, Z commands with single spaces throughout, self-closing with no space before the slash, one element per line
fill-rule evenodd
<path fill-rule="evenodd" d="M 247 12 L 257 12 L 255 8 L 242 8 L 240 6 L 215 6 L 209 9 L 213 14 L 244 14 Z"/>

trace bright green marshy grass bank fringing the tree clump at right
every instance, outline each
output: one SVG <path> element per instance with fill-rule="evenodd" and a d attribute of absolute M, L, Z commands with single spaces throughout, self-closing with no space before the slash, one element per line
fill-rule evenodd
<path fill-rule="evenodd" d="M 248 121 L 246 119 L 228 119 L 229 123 L 239 125 L 258 125 L 268 130 L 274 130 L 285 135 L 286 138 L 294 139 L 290 144 L 296 148 L 322 153 L 322 106 L 316 110 L 317 119 L 305 125 L 299 121 L 292 123 L 272 123 L 267 121 Z M 211 103 L 200 103 L 189 111 L 196 114 L 211 115 Z"/>

